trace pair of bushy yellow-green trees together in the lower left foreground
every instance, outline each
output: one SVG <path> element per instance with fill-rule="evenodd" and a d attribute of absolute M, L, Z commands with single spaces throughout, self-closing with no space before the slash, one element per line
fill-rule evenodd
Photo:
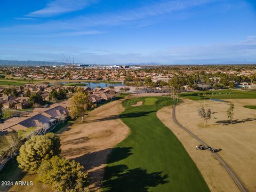
<path fill-rule="evenodd" d="M 60 157 L 60 146 L 60 138 L 54 133 L 34 135 L 20 147 L 19 167 L 37 173 L 36 181 L 54 191 L 89 191 L 89 177 L 84 167 Z"/>

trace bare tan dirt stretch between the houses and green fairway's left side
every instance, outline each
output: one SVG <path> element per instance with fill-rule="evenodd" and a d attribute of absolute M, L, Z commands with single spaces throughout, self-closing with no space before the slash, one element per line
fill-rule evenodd
<path fill-rule="evenodd" d="M 92 178 L 90 189 L 100 190 L 103 169 L 111 148 L 127 137 L 127 127 L 118 114 L 124 110 L 123 100 L 113 101 L 91 111 L 89 116 L 62 129 L 61 155 L 80 162 Z"/>

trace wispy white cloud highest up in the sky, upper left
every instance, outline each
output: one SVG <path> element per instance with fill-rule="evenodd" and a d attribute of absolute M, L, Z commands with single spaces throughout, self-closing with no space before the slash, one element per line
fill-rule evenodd
<path fill-rule="evenodd" d="M 55 15 L 82 10 L 96 0 L 54 0 L 49 2 L 43 9 L 30 12 L 26 17 L 52 17 Z"/>

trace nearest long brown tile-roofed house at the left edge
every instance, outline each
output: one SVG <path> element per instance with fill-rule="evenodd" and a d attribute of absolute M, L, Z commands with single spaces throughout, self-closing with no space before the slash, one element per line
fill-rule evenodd
<path fill-rule="evenodd" d="M 28 127 L 43 127 L 49 124 L 53 128 L 68 117 L 68 110 L 62 106 L 36 108 L 33 113 L 23 117 L 13 117 L 0 124 L 0 131 L 19 131 Z"/>

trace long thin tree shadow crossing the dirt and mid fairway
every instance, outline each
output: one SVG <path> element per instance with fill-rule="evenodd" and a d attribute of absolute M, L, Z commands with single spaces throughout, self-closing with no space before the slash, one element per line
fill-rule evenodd
<path fill-rule="evenodd" d="M 140 112 L 133 112 L 133 113 L 127 113 L 127 114 L 121 114 L 121 115 L 111 115 L 108 117 L 104 118 L 99 118 L 99 119 L 93 119 L 89 121 L 84 121 L 82 123 L 91 123 L 91 122 L 102 122 L 102 121 L 109 121 L 109 120 L 114 120 L 114 119 L 119 119 L 119 118 L 135 118 L 135 117 L 142 117 L 142 116 L 147 116 L 150 113 L 154 113 L 154 111 L 140 111 Z"/>

